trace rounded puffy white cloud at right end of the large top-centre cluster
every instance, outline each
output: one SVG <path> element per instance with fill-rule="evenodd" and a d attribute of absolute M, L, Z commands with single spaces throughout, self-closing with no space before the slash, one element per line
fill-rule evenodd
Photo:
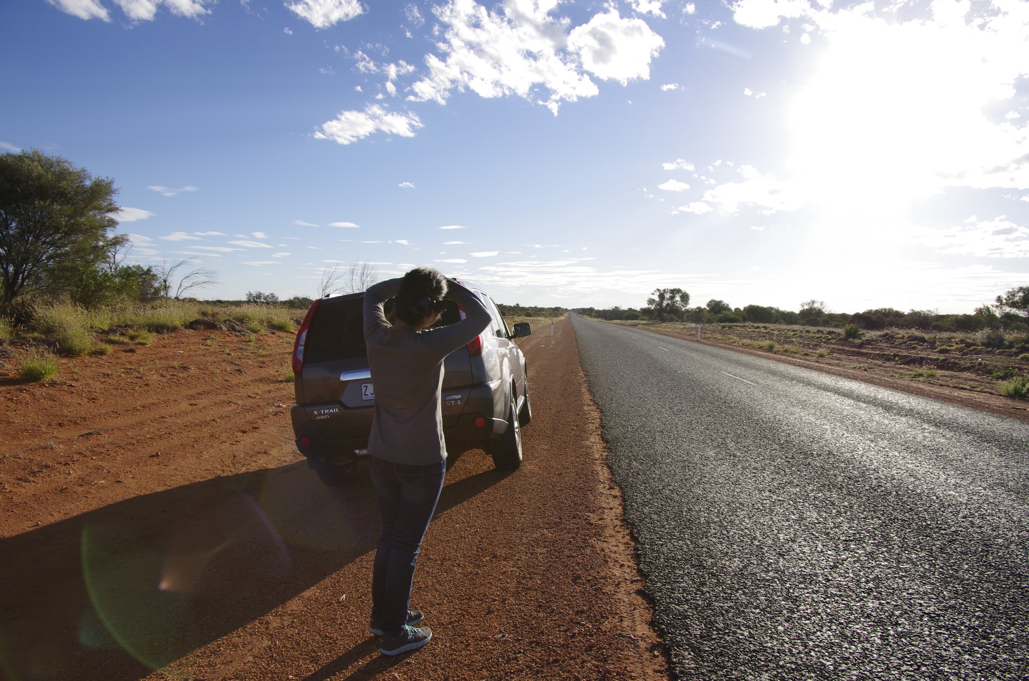
<path fill-rule="evenodd" d="M 660 3 L 659 3 L 660 7 Z M 611 7 L 584 26 L 572 29 L 568 47 L 578 53 L 582 67 L 604 80 L 650 77 L 650 60 L 665 46 L 660 35 L 640 19 L 622 19 Z"/>

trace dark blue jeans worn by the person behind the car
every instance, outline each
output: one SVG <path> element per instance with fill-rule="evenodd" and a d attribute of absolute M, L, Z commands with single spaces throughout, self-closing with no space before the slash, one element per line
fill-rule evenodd
<path fill-rule="evenodd" d="M 371 616 L 382 618 L 383 634 L 399 636 L 411 607 L 418 551 L 443 489 L 447 462 L 413 466 L 369 457 L 368 472 L 383 514 L 371 570 Z"/>

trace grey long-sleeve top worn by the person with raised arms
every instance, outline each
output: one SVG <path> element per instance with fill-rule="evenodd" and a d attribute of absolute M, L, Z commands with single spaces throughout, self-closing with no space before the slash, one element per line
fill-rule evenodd
<path fill-rule="evenodd" d="M 368 454 L 399 464 L 438 463 L 447 459 L 439 408 L 443 358 L 482 333 L 490 313 L 478 296 L 451 279 L 447 297 L 464 310 L 463 320 L 423 331 L 393 326 L 384 303 L 397 294 L 401 281 L 380 282 L 364 292 L 364 344 L 376 387 Z"/>

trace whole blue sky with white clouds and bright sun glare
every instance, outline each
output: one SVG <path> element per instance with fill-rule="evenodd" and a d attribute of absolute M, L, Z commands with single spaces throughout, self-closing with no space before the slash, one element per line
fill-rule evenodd
<path fill-rule="evenodd" d="M 201 297 L 966 313 L 1029 284 L 1029 2 L 14 0 L 0 151 Z"/>

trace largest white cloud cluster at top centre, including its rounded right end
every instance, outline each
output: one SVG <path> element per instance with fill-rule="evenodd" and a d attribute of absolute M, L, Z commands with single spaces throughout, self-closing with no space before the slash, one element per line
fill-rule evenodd
<path fill-rule="evenodd" d="M 453 89 L 480 97 L 522 97 L 557 114 L 562 102 L 599 93 L 583 73 L 622 82 L 649 76 L 664 41 L 638 19 L 610 7 L 567 33 L 552 16 L 558 2 L 509 2 L 490 11 L 472 0 L 451 0 L 433 11 L 443 25 L 443 59 L 427 55 L 429 75 L 414 83 L 413 101 L 443 104 Z M 542 92 L 545 91 L 545 92 Z"/>

